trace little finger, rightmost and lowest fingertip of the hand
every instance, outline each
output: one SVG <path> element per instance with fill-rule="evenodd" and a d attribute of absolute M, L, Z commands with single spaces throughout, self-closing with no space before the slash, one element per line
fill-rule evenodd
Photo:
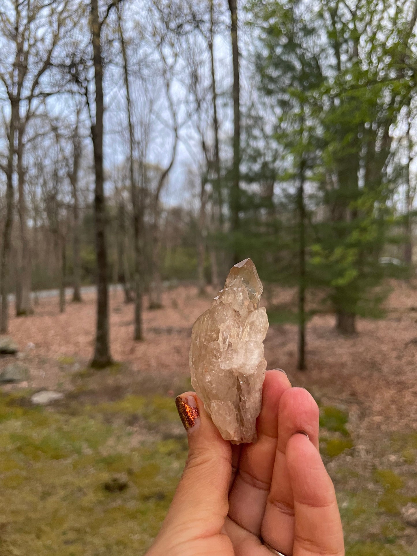
<path fill-rule="evenodd" d="M 334 486 L 314 445 L 302 434 L 288 441 L 286 461 L 294 495 L 293 556 L 343 556 Z"/>

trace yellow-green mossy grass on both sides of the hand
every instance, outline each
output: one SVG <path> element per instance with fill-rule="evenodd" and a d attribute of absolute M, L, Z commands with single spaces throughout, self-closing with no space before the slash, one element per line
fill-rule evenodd
<path fill-rule="evenodd" d="M 135 429 L 127 426 L 133 418 L 141 419 Z M 2 556 L 145 554 L 187 454 L 185 435 L 155 435 L 178 423 L 173 398 L 128 395 L 51 410 L 22 394 L 1 395 L 0 421 Z M 347 414 L 325 406 L 320 422 L 327 455 L 350 447 Z M 410 439 L 396 445 L 399 453 L 413 446 Z M 108 492 L 106 483 L 118 477 L 127 488 Z M 334 479 L 347 556 L 411 556 L 400 544 L 399 510 L 412 500 L 406 478 L 375 469 L 363 480 L 353 464 L 337 468 Z"/>

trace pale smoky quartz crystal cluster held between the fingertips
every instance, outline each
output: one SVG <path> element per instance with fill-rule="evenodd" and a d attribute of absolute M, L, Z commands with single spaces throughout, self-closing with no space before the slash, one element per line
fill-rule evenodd
<path fill-rule="evenodd" d="M 232 267 L 224 289 L 192 327 L 191 383 L 225 440 L 256 440 L 268 330 L 263 287 L 245 259 Z"/>

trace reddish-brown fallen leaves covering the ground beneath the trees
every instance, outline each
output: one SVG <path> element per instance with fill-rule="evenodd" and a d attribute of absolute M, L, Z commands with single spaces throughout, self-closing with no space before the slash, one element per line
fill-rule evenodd
<path fill-rule="evenodd" d="M 278 291 L 278 299 L 288 296 L 289 290 Z M 211 295 L 198 296 L 193 287 L 165 292 L 162 309 L 144 311 L 142 342 L 132 340 L 133 305 L 123 303 L 121 291 L 111 292 L 110 301 L 112 355 L 126 364 L 119 395 L 143 375 L 153 375 L 156 383 L 162 377 L 188 376 L 191 327 L 210 306 Z M 296 326 L 271 325 L 265 341 L 269 368 L 285 369 L 294 385 L 305 386 L 329 403 L 358 406 L 356 413 L 368 427 L 417 429 L 417 291 L 396 283 L 387 307 L 383 320 L 359 319 L 358 334 L 352 337 L 334 331 L 334 316 L 316 315 L 307 326 L 304 373 L 295 368 Z M 85 295 L 81 304 L 68 302 L 64 314 L 59 314 L 57 299 L 47 298 L 41 299 L 34 315 L 11 315 L 11 336 L 31 371 L 27 386 L 72 388 L 72 376 L 86 368 L 93 352 L 95 316 L 93 294 Z M 2 358 L 0 370 L 8 359 Z"/>

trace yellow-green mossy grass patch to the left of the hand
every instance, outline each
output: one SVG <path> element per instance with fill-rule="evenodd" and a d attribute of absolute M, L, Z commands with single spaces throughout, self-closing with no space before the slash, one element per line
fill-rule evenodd
<path fill-rule="evenodd" d="M 138 410 L 165 419 L 172 404 L 130 396 L 67 415 L 1 396 L 2 556 L 145 553 L 181 474 L 185 439 L 138 443 L 107 417 Z M 128 487 L 109 493 L 115 474 Z"/>

